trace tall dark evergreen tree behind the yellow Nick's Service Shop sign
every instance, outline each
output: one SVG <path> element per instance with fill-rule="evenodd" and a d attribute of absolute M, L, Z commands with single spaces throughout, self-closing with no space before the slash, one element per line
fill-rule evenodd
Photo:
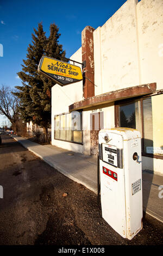
<path fill-rule="evenodd" d="M 51 123 L 51 88 L 55 83 L 39 74 L 37 68 L 42 56 L 65 61 L 65 51 L 59 44 L 59 28 L 54 23 L 50 26 L 48 38 L 43 31 L 42 23 L 39 23 L 34 32 L 32 44 L 27 48 L 27 59 L 23 59 L 22 71 L 17 73 L 22 80 L 22 86 L 16 86 L 19 92 L 15 95 L 20 99 L 19 110 L 22 119 L 32 120 L 33 123 L 42 126 L 43 132 L 47 135 Z"/>

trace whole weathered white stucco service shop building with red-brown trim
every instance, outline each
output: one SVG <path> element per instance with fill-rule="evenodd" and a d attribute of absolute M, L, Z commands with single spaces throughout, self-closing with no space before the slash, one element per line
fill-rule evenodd
<path fill-rule="evenodd" d="M 52 87 L 52 145 L 97 155 L 98 132 L 131 127 L 142 168 L 163 175 L 163 1 L 128 0 L 102 27 L 82 32 L 70 58 L 83 81 Z"/>

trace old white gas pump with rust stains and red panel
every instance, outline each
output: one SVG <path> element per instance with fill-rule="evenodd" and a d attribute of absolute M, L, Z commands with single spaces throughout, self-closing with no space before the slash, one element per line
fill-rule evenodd
<path fill-rule="evenodd" d="M 141 135 L 135 129 L 99 131 L 102 216 L 131 240 L 142 229 Z"/>

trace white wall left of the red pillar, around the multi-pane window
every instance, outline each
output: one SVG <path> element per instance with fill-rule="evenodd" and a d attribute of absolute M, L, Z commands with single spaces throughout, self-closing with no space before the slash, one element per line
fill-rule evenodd
<path fill-rule="evenodd" d="M 82 48 L 79 48 L 70 59 L 82 63 Z M 80 64 L 74 63 L 74 65 L 80 66 L 81 68 Z M 55 86 L 52 87 L 52 145 L 83 153 L 83 145 L 54 139 L 54 115 L 69 112 L 68 106 L 80 100 L 83 100 L 83 81 L 64 87 L 55 84 Z"/>

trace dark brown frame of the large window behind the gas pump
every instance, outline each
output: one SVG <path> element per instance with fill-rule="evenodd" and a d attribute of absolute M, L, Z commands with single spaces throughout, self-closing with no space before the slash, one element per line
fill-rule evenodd
<path fill-rule="evenodd" d="M 155 159 L 163 159 L 163 155 L 156 155 L 156 154 L 148 154 L 143 152 L 144 148 L 144 125 L 143 125 L 143 99 L 145 97 L 152 97 L 152 95 L 145 95 L 142 97 L 132 97 L 130 99 L 125 99 L 125 100 L 119 100 L 115 101 L 114 103 L 114 110 L 115 110 L 115 127 L 120 127 L 120 105 L 122 104 L 127 104 L 127 103 L 132 103 L 133 101 L 140 100 L 141 103 L 141 118 L 142 118 L 142 151 L 141 154 L 142 156 L 146 157 L 152 157 Z"/>

